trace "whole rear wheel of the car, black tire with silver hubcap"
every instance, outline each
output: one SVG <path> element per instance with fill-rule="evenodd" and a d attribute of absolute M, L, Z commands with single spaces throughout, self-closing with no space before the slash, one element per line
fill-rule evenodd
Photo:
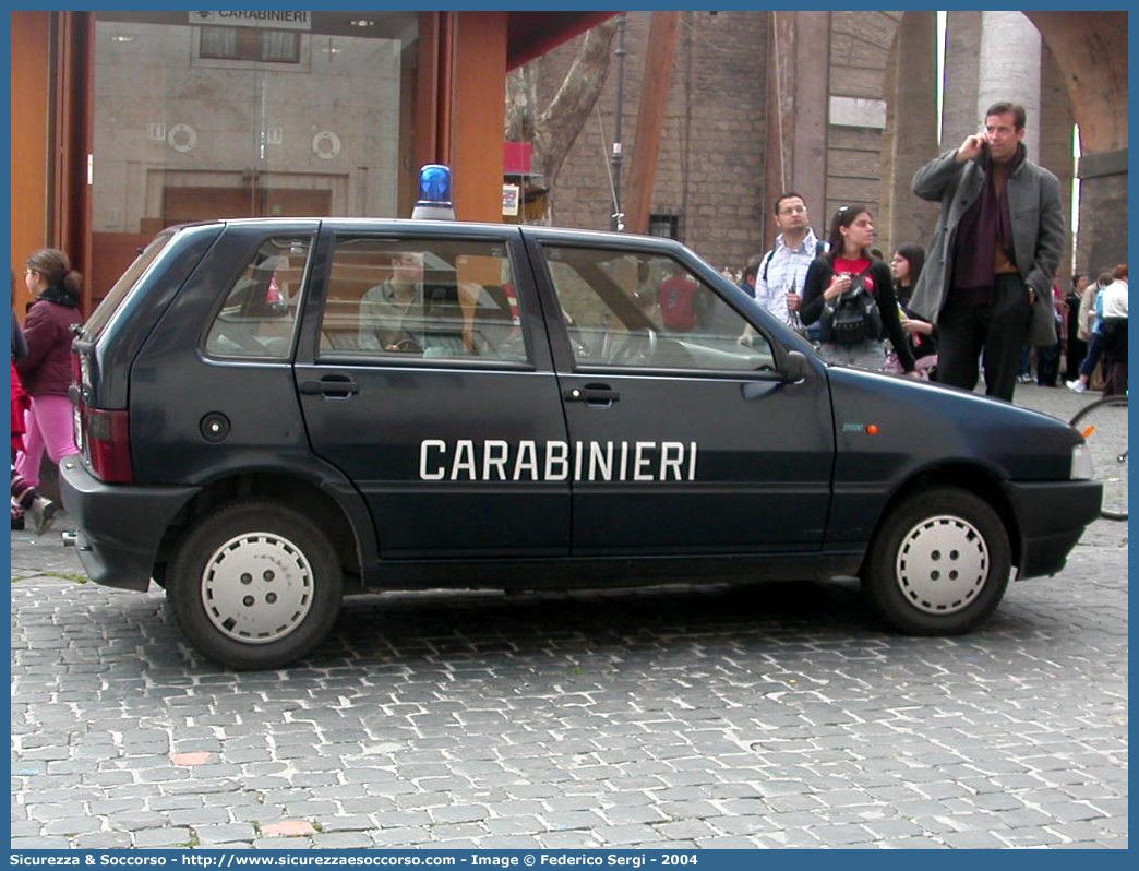
<path fill-rule="evenodd" d="M 277 668 L 311 651 L 341 608 L 342 570 L 328 537 L 269 500 L 206 514 L 170 563 L 166 596 L 190 644 L 237 669 Z"/>

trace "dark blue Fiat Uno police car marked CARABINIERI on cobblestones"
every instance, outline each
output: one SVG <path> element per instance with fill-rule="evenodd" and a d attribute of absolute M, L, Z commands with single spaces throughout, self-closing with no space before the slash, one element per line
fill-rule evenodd
<path fill-rule="evenodd" d="M 182 226 L 75 355 L 85 570 L 155 581 L 233 668 L 310 652 L 344 595 L 427 587 L 857 575 L 888 626 L 962 633 L 1100 503 L 1072 428 L 829 365 L 662 238 Z"/>

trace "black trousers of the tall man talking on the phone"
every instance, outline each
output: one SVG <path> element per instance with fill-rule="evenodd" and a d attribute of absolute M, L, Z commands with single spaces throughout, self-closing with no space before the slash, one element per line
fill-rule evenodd
<path fill-rule="evenodd" d="M 937 318 L 937 381 L 973 390 L 980 359 L 985 393 L 1011 401 L 1031 315 L 1029 288 L 1016 272 L 997 276 L 991 303 L 962 306 L 950 296 Z"/>

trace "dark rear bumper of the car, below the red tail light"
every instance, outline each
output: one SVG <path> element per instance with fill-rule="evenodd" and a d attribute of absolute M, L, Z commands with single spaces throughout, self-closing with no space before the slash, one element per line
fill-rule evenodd
<path fill-rule="evenodd" d="M 132 487 L 93 478 L 77 456 L 59 464 L 64 508 L 75 519 L 75 548 L 91 580 L 146 589 L 158 545 L 197 487 Z"/>

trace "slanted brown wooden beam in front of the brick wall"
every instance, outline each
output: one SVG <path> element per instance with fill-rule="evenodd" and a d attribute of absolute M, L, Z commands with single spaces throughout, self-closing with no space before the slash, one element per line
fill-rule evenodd
<path fill-rule="evenodd" d="M 653 13 L 645 52 L 640 106 L 637 112 L 637 139 L 633 143 L 632 165 L 629 174 L 629 196 L 625 201 L 625 229 L 629 233 L 648 231 L 648 213 L 653 203 L 656 179 L 656 158 L 664 130 L 664 109 L 669 103 L 672 82 L 672 63 L 677 57 L 677 34 L 680 13 Z"/>

